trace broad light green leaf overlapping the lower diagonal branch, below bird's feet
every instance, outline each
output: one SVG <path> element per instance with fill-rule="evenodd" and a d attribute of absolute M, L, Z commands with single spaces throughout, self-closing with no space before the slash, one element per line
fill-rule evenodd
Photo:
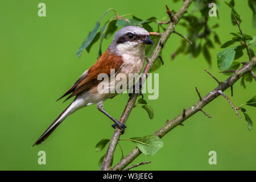
<path fill-rule="evenodd" d="M 163 141 L 155 135 L 149 135 L 146 137 L 133 137 L 131 141 L 137 144 L 139 150 L 148 156 L 154 155 L 163 147 Z"/>

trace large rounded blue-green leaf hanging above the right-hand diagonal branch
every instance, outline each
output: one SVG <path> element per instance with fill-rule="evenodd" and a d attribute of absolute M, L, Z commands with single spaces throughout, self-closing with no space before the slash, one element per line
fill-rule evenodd
<path fill-rule="evenodd" d="M 217 53 L 218 69 L 220 70 L 229 69 L 229 67 L 233 63 L 234 56 L 236 54 L 236 51 L 234 51 L 235 48 L 236 47 L 230 47 L 228 49 L 225 49 L 224 51 Z"/>

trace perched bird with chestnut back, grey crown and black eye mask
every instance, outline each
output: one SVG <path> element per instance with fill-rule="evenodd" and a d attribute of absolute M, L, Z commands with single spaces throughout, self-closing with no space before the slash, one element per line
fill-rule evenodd
<path fill-rule="evenodd" d="M 109 117 L 114 125 L 112 127 L 118 127 L 123 131 L 126 126 L 114 119 L 109 113 L 104 110 L 103 102 L 108 98 L 117 96 L 117 92 L 113 90 L 113 83 L 120 83 L 121 80 L 111 79 L 111 77 L 118 77 L 119 75 L 129 76 L 129 74 L 139 74 L 142 71 L 146 45 L 154 44 L 149 38 L 148 31 L 139 26 L 126 26 L 118 30 L 112 43 L 106 49 L 99 59 L 82 73 L 81 77 L 73 84 L 73 86 L 63 94 L 58 100 L 63 97 L 69 98 L 75 97 L 69 106 L 53 121 L 46 131 L 39 137 L 33 146 L 42 143 L 49 135 L 75 111 L 82 107 L 97 104 L 98 110 Z M 110 72 L 114 71 L 114 75 L 110 75 Z M 99 80 L 98 76 L 102 73 L 110 76 L 108 80 Z M 105 81 L 105 82 L 104 82 Z M 105 88 L 110 92 L 98 92 L 98 86 L 102 83 L 107 83 Z M 124 84 L 128 85 L 129 81 Z M 58 101 L 57 100 L 57 101 Z M 65 100 L 65 101 L 66 101 Z"/>

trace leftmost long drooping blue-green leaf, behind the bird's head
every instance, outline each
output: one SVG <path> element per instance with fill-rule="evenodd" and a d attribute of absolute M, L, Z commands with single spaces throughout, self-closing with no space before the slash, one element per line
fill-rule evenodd
<path fill-rule="evenodd" d="M 109 9 L 109 10 L 110 10 L 110 9 Z M 76 53 L 76 56 L 77 56 L 77 57 L 80 57 L 81 54 L 82 54 L 82 51 L 84 51 L 84 49 L 85 49 L 86 47 L 88 47 L 88 46 L 93 42 L 93 39 L 96 37 L 97 32 L 98 32 L 98 30 L 99 30 L 99 28 L 100 28 L 100 25 L 101 25 L 101 24 L 100 24 L 100 21 L 101 21 L 101 19 L 109 12 L 109 10 L 107 10 L 107 11 L 105 12 L 105 14 L 102 15 L 101 18 L 97 20 L 97 22 L 95 23 L 95 26 L 94 26 L 93 30 L 90 31 L 89 34 L 88 34 L 88 36 L 84 39 L 84 42 L 82 42 L 81 46 L 79 47 L 79 50 L 78 50 L 77 53 Z M 94 41 L 94 42 L 96 42 L 96 41 Z"/>

